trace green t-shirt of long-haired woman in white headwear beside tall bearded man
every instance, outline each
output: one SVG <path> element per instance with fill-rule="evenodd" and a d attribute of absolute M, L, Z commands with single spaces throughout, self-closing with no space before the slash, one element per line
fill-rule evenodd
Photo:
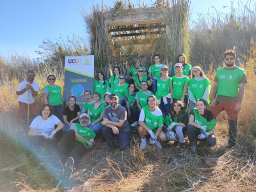
<path fill-rule="evenodd" d="M 202 81 L 196 81 L 195 78 L 192 78 L 189 81 L 189 87 L 195 100 L 202 99 L 207 86 L 210 86 L 210 91 L 211 91 L 211 81 L 209 81 L 206 78 L 203 79 Z M 210 103 L 209 98 L 207 99 L 207 102 L 208 104 Z"/>

